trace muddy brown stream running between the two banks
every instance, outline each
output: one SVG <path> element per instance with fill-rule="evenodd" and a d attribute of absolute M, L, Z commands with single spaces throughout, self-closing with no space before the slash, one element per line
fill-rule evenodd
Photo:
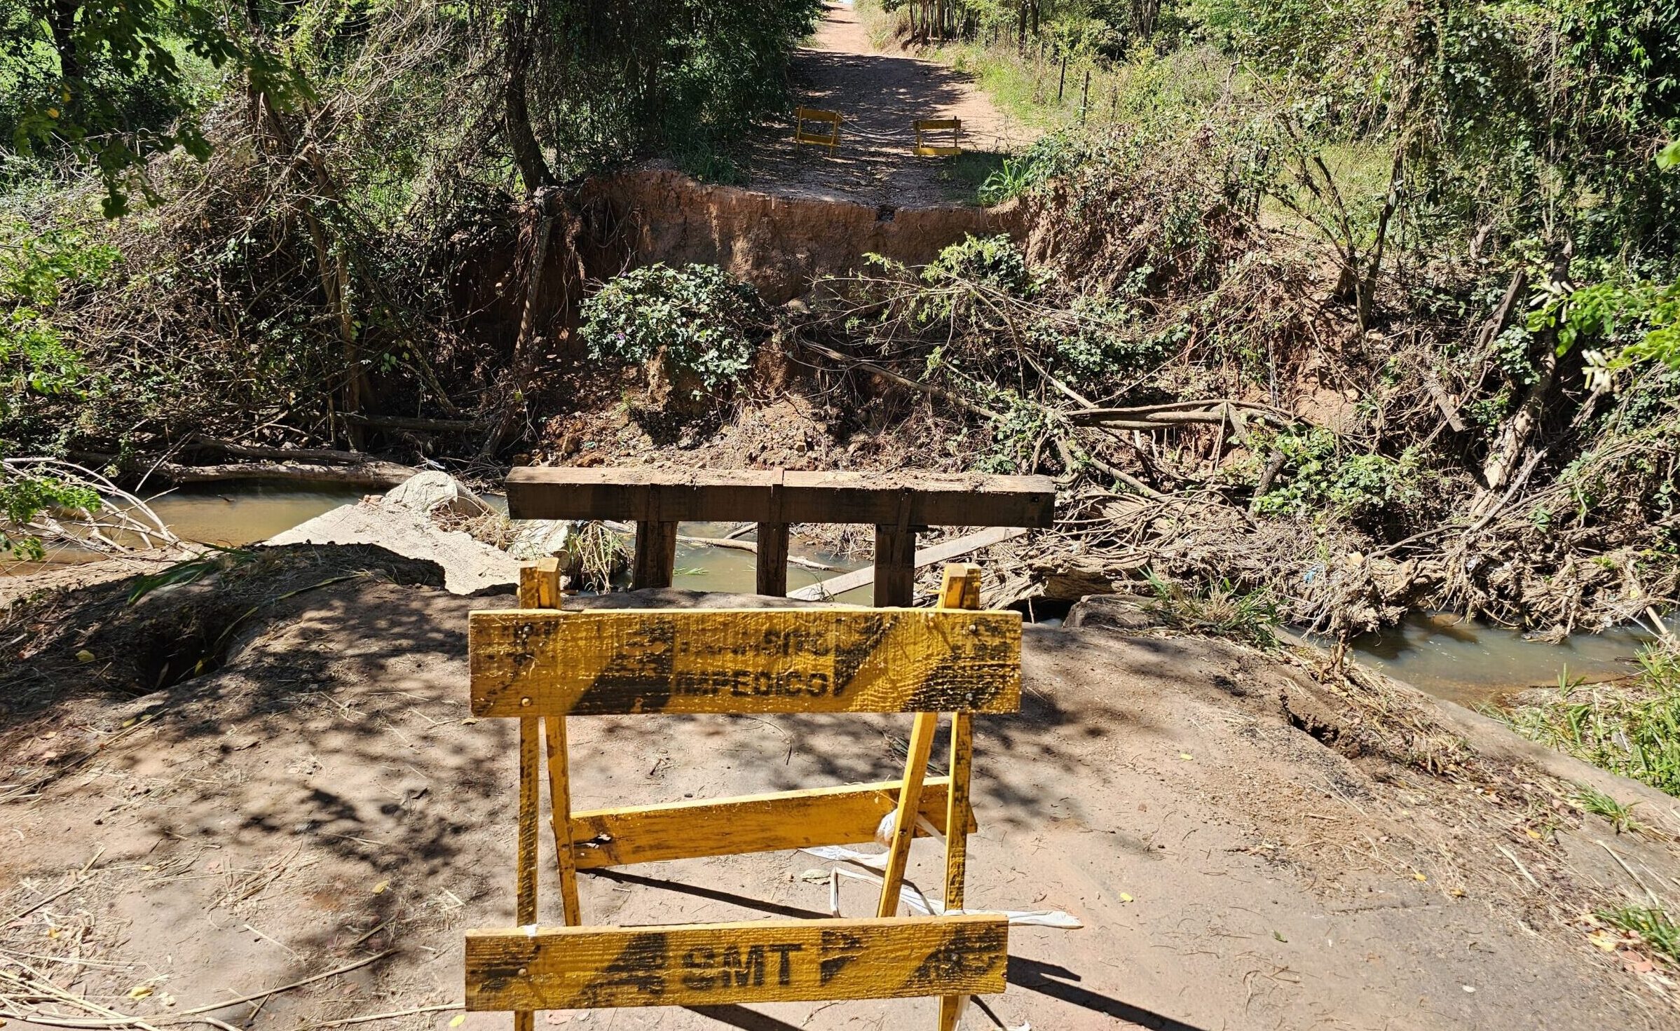
<path fill-rule="evenodd" d="M 356 487 L 321 484 L 230 482 L 193 485 L 150 499 L 151 509 L 188 541 L 242 546 L 265 541 L 281 531 L 314 519 L 338 505 L 356 502 L 365 492 Z M 492 505 L 506 505 L 487 495 Z M 682 524 L 692 537 L 722 537 L 721 524 Z M 840 573 L 867 566 L 867 561 L 827 554 L 810 542 L 795 539 L 790 554 L 822 563 L 833 571 L 788 566 L 788 589 L 798 589 Z M 25 574 L 52 564 L 84 563 L 99 557 L 79 549 L 55 549 L 47 563 L 7 563 L 5 574 Z M 754 556 L 706 544 L 679 542 L 674 586 L 692 591 L 751 593 Z M 867 604 L 870 588 L 838 596 L 840 601 Z M 1467 623 L 1448 615 L 1413 615 L 1399 626 L 1366 635 L 1354 641 L 1361 662 L 1391 677 L 1463 705 L 1483 705 L 1500 695 L 1525 687 L 1557 685 L 1562 678 L 1611 680 L 1630 673 L 1633 655 L 1651 640 L 1643 628 L 1614 630 L 1603 635 L 1576 635 L 1562 643 L 1530 641 L 1522 633 Z"/>

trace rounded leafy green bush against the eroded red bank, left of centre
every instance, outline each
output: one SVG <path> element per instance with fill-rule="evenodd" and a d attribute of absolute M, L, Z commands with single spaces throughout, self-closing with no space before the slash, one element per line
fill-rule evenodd
<path fill-rule="evenodd" d="M 657 264 L 610 279 L 581 316 L 591 356 L 657 364 L 701 398 L 732 393 L 751 368 L 758 348 L 749 334 L 763 321 L 763 302 L 716 265 Z"/>

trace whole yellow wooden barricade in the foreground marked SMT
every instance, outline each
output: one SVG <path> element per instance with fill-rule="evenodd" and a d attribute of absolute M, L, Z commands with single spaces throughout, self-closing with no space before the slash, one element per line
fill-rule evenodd
<path fill-rule="evenodd" d="M 1018 613 L 979 610 L 979 569 L 946 566 L 937 610 L 559 611 L 559 571 L 521 574 L 519 610 L 469 623 L 472 714 L 519 719 L 521 927 L 469 930 L 465 999 L 512 1011 L 721 1006 L 939 996 L 956 1028 L 971 994 L 1001 992 L 1008 920 L 899 917 L 911 840 L 946 838 L 944 908 L 961 910 L 973 714 L 1016 712 Z M 879 784 L 571 811 L 568 715 L 914 712 L 904 776 Z M 949 776 L 927 777 L 951 712 Z M 536 925 L 539 739 L 546 741 L 566 927 Z M 578 870 L 869 841 L 892 814 L 875 917 L 581 927 Z"/>

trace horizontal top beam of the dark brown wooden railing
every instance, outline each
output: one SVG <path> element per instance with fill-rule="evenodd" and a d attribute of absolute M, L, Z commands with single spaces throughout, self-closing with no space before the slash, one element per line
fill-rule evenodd
<path fill-rule="evenodd" d="M 1050 477 L 549 467 L 507 474 L 514 519 L 897 524 L 906 495 L 911 526 L 1048 527 L 1055 519 Z"/>

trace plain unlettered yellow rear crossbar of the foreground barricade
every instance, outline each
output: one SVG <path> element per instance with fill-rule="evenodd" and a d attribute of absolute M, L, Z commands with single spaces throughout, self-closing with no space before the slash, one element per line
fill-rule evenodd
<path fill-rule="evenodd" d="M 573 853 L 578 870 L 598 870 L 870 841 L 880 818 L 897 806 L 899 786 L 880 781 L 573 813 Z M 941 835 L 951 818 L 949 789 L 951 777 L 927 777 L 922 784 L 921 816 Z M 956 813 L 966 836 L 974 830 L 968 799 Z"/>

